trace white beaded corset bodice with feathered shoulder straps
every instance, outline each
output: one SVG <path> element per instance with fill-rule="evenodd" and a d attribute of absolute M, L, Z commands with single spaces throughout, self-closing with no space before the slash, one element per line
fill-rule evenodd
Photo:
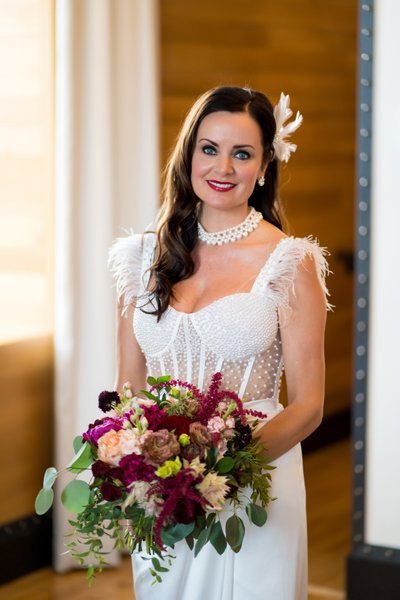
<path fill-rule="evenodd" d="M 155 236 L 120 238 L 111 250 L 119 296 L 136 298 L 133 330 L 146 357 L 148 374 L 171 375 L 205 389 L 211 375 L 223 373 L 223 386 L 244 401 L 277 404 L 283 370 L 279 312 L 289 306 L 299 264 L 312 255 L 325 290 L 323 251 L 308 238 L 284 238 L 269 255 L 248 293 L 222 297 L 193 313 L 173 307 L 160 321 L 147 314 L 148 268 Z"/>

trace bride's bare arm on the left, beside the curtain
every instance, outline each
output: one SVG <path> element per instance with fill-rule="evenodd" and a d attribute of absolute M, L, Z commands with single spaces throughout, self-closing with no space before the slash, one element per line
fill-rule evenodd
<path fill-rule="evenodd" d="M 134 392 L 146 387 L 146 361 L 133 329 L 134 311 L 134 303 L 129 305 L 124 315 L 120 306 L 117 309 L 117 391 L 121 391 L 128 381 Z"/>

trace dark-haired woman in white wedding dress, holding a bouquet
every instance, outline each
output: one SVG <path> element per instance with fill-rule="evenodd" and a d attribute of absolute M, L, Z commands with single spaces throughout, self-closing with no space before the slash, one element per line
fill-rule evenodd
<path fill-rule="evenodd" d="M 289 97 L 274 109 L 260 92 L 219 87 L 194 104 L 165 177 L 157 234 L 117 240 L 120 298 L 117 389 L 169 374 L 207 388 L 223 373 L 246 407 L 268 414 L 257 436 L 276 470 L 277 499 L 243 547 L 193 558 L 185 542 L 163 582 L 134 556 L 137 600 L 305 600 L 307 549 L 300 442 L 320 423 L 324 398 L 327 270 L 310 239 L 282 232 L 278 160 L 287 161 Z M 127 317 L 127 318 L 124 318 Z M 285 366 L 288 405 L 278 402 Z M 244 517 L 245 519 L 245 517 Z"/>

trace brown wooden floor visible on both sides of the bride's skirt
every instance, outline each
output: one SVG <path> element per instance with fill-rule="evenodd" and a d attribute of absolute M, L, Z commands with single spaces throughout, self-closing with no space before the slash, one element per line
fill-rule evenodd
<path fill-rule="evenodd" d="M 345 600 L 345 559 L 350 549 L 350 443 L 338 442 L 307 455 L 304 469 L 309 523 L 308 600 Z M 119 568 L 102 573 L 91 589 L 82 571 L 57 575 L 50 568 L 0 587 L 0 600 L 28 599 L 134 600 L 130 560 L 124 557 Z"/>

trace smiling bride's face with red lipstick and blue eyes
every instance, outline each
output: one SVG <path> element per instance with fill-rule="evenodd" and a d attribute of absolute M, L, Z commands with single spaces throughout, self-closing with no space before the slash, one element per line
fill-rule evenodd
<path fill-rule="evenodd" d="M 205 205 L 247 206 L 264 171 L 261 131 L 248 113 L 220 111 L 204 118 L 193 151 L 191 181 Z"/>

